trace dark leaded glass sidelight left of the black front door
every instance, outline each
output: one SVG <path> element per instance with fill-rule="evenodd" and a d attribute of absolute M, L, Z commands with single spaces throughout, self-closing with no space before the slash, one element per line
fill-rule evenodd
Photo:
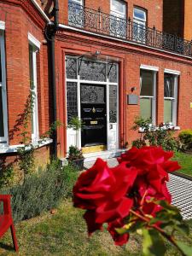
<path fill-rule="evenodd" d="M 77 83 L 67 82 L 67 123 L 78 116 Z"/>

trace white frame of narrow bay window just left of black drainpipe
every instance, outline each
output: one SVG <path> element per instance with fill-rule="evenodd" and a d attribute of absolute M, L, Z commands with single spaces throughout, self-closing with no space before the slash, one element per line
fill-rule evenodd
<path fill-rule="evenodd" d="M 34 38 L 31 33 L 28 33 L 29 45 L 32 46 L 32 75 L 33 75 L 33 85 L 34 88 L 30 89 L 34 93 L 34 104 L 32 112 L 33 120 L 33 133 L 32 133 L 32 143 L 35 143 L 39 139 L 38 132 L 38 79 L 37 79 L 37 52 L 40 49 L 41 43 L 38 39 Z M 30 52 L 29 52 L 30 54 Z M 30 64 L 29 64 L 30 65 Z M 30 67 L 29 67 L 30 70 Z"/>

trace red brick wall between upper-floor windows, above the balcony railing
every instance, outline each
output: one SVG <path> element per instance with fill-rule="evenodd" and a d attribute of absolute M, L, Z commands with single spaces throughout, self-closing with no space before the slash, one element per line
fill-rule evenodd
<path fill-rule="evenodd" d="M 162 30 L 163 0 L 125 0 L 127 3 L 127 19 L 133 17 L 134 6 L 146 9 L 148 12 L 148 26 L 155 26 Z M 84 0 L 84 6 L 90 9 L 101 8 L 102 12 L 110 14 L 110 1 L 106 0 Z M 60 22 L 67 24 L 67 0 L 59 2 Z"/>

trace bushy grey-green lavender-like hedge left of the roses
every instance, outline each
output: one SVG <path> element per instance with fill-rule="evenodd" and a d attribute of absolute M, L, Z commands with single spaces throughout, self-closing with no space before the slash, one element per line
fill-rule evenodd
<path fill-rule="evenodd" d="M 26 177 L 24 183 L 1 189 L 0 194 L 12 195 L 15 222 L 57 207 L 64 197 L 72 195 L 78 176 L 75 171 L 72 166 L 61 167 L 59 162 L 54 161 L 46 170 Z"/>

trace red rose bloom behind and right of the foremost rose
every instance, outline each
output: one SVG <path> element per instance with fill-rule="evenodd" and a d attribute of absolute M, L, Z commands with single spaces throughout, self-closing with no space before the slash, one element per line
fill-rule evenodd
<path fill-rule="evenodd" d="M 128 167 L 135 166 L 138 170 L 133 190 L 138 192 L 137 202 L 142 205 L 145 214 L 155 216 L 161 209 L 153 202 L 148 203 L 151 198 L 166 200 L 169 203 L 172 201 L 172 196 L 166 188 L 167 172 L 180 168 L 177 161 L 169 160 L 172 155 L 172 152 L 166 152 L 160 147 L 143 147 L 131 148 L 119 158 L 119 162 L 125 161 Z"/>

